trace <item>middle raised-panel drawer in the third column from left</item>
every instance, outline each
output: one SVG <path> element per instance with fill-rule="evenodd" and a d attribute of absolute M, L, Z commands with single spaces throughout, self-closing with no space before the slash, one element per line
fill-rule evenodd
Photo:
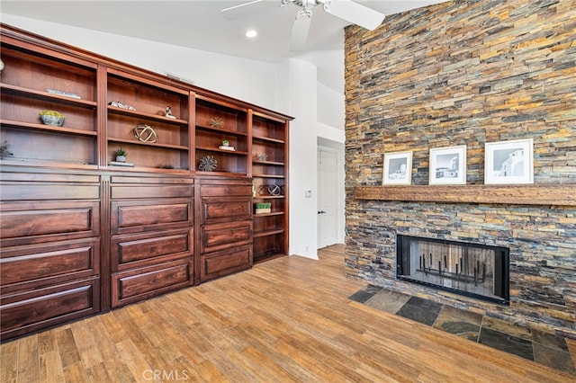
<path fill-rule="evenodd" d="M 251 240 L 251 221 L 229 222 L 202 227 L 202 253 L 249 244 Z"/>

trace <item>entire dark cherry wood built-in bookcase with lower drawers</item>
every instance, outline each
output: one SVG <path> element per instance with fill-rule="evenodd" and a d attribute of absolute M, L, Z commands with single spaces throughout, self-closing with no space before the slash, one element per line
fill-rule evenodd
<path fill-rule="evenodd" d="M 2 341 L 287 253 L 291 117 L 0 33 Z"/>

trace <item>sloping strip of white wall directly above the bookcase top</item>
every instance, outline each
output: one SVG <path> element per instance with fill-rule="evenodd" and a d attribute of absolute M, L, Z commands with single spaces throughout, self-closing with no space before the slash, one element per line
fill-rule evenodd
<path fill-rule="evenodd" d="M 277 67 L 263 61 L 236 58 L 156 41 L 70 27 L 2 14 L 2 22 L 65 42 L 161 75 L 173 73 L 194 85 L 286 113 L 277 102 Z M 144 26 L 143 26 L 144 27 Z"/>

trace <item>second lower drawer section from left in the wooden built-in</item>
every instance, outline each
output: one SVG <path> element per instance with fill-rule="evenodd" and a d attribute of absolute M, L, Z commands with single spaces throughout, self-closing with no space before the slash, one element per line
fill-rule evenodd
<path fill-rule="evenodd" d="M 193 179 L 111 179 L 112 307 L 193 285 Z"/>

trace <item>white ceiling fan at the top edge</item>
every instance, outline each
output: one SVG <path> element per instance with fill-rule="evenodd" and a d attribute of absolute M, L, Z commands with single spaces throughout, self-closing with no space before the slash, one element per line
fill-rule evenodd
<path fill-rule="evenodd" d="M 290 49 L 293 51 L 304 49 L 312 20 L 312 9 L 317 5 L 322 5 L 326 13 L 333 14 L 342 20 L 352 22 L 367 30 L 377 28 L 385 17 L 383 13 L 376 12 L 374 9 L 357 4 L 352 0 L 279 0 L 279 2 L 280 6 L 294 4 L 302 8 L 294 17 L 290 44 Z M 270 4 L 270 1 L 253 0 L 248 3 L 230 6 L 220 12 L 226 19 L 236 20 L 258 11 L 266 10 L 266 4 Z"/>

